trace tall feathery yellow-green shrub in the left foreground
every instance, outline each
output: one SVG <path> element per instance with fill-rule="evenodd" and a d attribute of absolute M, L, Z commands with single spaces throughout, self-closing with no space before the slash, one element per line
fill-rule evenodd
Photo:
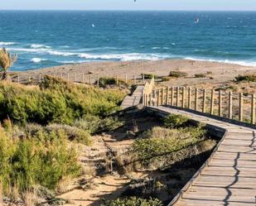
<path fill-rule="evenodd" d="M 61 132 L 37 132 L 34 137 L 13 138 L 0 128 L 0 182 L 3 193 L 12 194 L 40 184 L 55 189 L 65 177 L 80 175 L 73 147 Z"/>

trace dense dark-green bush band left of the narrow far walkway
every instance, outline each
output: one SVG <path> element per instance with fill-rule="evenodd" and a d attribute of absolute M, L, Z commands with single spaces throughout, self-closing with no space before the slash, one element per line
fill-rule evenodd
<path fill-rule="evenodd" d="M 70 124 L 85 114 L 105 116 L 118 110 L 125 93 L 45 77 L 41 89 L 0 83 L 0 118 L 14 122 Z"/>

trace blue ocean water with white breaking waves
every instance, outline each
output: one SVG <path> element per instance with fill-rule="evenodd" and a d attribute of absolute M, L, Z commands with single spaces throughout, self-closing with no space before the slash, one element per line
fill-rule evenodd
<path fill-rule="evenodd" d="M 256 12 L 0 11 L 3 46 L 19 56 L 12 70 L 176 58 L 256 65 Z"/>

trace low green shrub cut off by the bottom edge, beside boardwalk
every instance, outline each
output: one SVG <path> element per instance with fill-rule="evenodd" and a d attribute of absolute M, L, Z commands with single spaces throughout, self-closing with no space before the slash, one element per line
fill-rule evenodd
<path fill-rule="evenodd" d="M 126 199 L 116 199 L 107 201 L 100 206 L 162 206 L 162 202 L 159 199 L 140 199 L 136 197 Z"/>

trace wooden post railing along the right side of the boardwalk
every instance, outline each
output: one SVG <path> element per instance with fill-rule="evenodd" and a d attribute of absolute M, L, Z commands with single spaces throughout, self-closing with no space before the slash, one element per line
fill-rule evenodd
<path fill-rule="evenodd" d="M 146 89 L 146 87 L 145 87 Z M 255 124 L 255 94 L 166 87 L 144 93 L 144 106 L 170 105 Z"/>

